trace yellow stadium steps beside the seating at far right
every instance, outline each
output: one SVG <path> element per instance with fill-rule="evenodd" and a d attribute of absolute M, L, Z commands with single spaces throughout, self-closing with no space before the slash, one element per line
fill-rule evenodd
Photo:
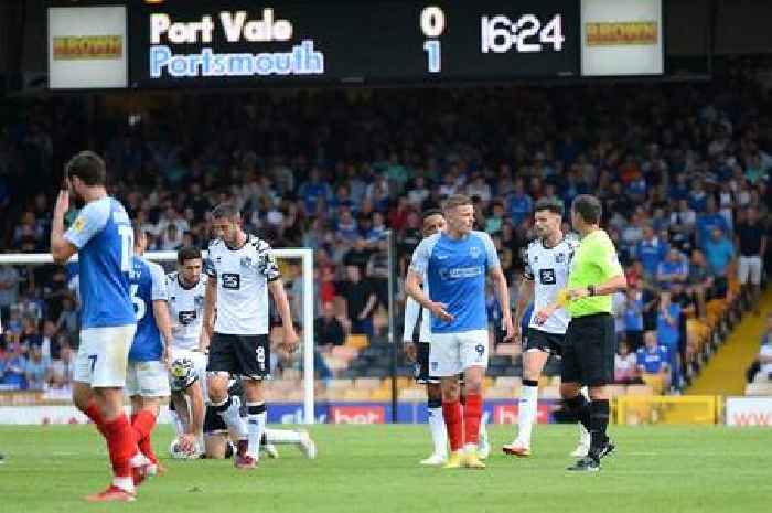
<path fill-rule="evenodd" d="M 743 395 L 746 368 L 759 353 L 766 314 L 772 311 L 772 287 L 761 296 L 761 316 L 746 313 L 723 345 L 703 368 L 687 395 Z"/>

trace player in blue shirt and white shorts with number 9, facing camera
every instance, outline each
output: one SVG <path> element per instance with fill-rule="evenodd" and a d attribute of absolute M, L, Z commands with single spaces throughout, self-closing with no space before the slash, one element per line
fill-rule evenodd
<path fill-rule="evenodd" d="M 446 468 L 484 469 L 476 446 L 482 416 L 482 381 L 487 366 L 485 277 L 491 276 L 504 306 L 506 339 L 514 335 L 510 292 L 491 237 L 472 231 L 471 199 L 454 194 L 444 206 L 447 232 L 425 238 L 412 255 L 407 293 L 431 312 L 430 372 L 441 378 L 442 414 L 451 456 Z M 421 290 L 426 275 L 429 297 Z M 464 373 L 465 404 L 461 407 L 457 375 Z M 462 450 L 463 449 L 463 450 Z"/>

